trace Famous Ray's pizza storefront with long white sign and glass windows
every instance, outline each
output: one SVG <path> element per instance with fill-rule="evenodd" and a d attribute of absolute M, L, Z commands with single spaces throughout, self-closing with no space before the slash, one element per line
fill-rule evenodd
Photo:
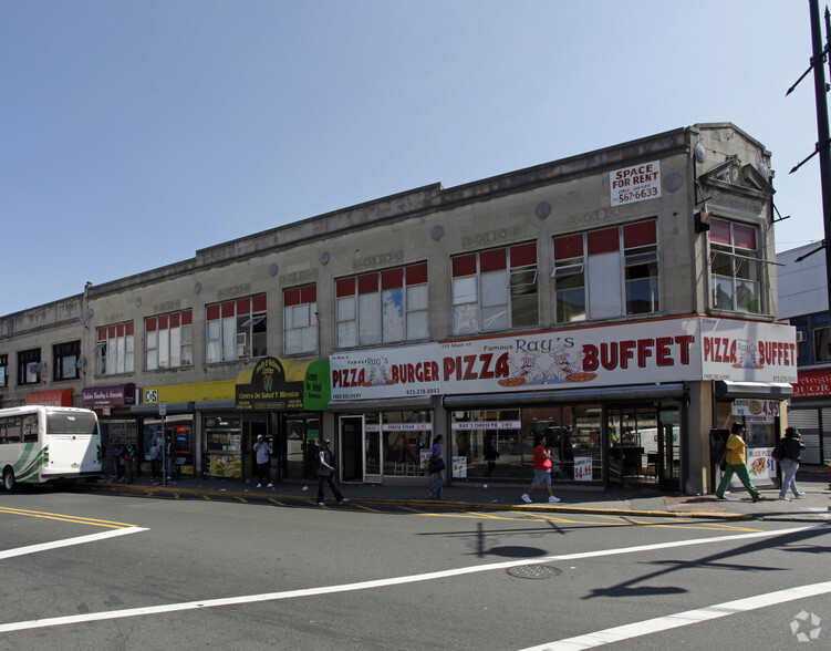
<path fill-rule="evenodd" d="M 709 430 L 748 392 L 785 400 L 794 347 L 787 326 L 690 317 L 335 354 L 341 478 L 405 480 L 406 447 L 444 434 L 450 482 L 526 482 L 544 434 L 557 482 L 703 492 Z M 776 423 L 751 416 L 772 446 Z"/>

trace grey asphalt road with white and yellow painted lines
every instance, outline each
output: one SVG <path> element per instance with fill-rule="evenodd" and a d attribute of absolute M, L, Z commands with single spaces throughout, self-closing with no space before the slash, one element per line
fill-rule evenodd
<path fill-rule="evenodd" d="M 0 527 L 0 649 L 831 647 L 828 525 L 33 489 Z"/>

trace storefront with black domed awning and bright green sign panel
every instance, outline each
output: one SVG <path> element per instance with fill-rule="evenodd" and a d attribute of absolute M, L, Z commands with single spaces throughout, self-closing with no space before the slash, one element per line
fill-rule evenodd
<path fill-rule="evenodd" d="M 233 447 L 231 454 L 216 450 L 214 458 L 232 463 L 232 454 L 238 454 L 241 459 L 239 473 L 228 476 L 253 477 L 257 469 L 251 448 L 257 435 L 262 434 L 273 451 L 273 479 L 314 478 L 318 474 L 321 412 L 325 411 L 328 402 L 329 360 L 298 362 L 263 358 L 237 378 L 239 435 L 235 435 L 230 443 Z M 224 445 L 224 441 L 215 447 Z M 215 466 L 219 464 L 215 462 Z"/>

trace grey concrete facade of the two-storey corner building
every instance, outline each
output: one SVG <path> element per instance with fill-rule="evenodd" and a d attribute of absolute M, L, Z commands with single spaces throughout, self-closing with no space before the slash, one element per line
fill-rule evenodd
<path fill-rule="evenodd" d="M 659 164 L 659 180 L 646 186 L 659 196 L 633 198 L 634 195 L 617 195 L 615 198 L 612 173 L 635 169 L 651 162 Z M 702 124 L 458 187 L 429 185 L 219 244 L 196 251 L 194 258 L 89 286 L 82 293 L 62 301 L 0 318 L 0 355 L 7 355 L 8 368 L 6 385 L 0 388 L 0 404 L 22 404 L 35 390 L 70 388 L 74 391 L 76 406 L 80 406 L 84 389 L 134 383 L 139 395 L 136 409 L 115 411 L 141 418 L 152 411 L 138 409 L 144 404 L 141 397 L 143 388 L 235 382 L 253 360 L 245 358 L 208 363 L 205 314 L 207 306 L 239 297 L 266 294 L 269 356 L 311 361 L 355 352 L 355 348 L 344 350 L 337 344 L 336 280 L 415 264 L 426 262 L 428 270 L 428 337 L 394 344 L 378 342 L 357 349 L 389 350 L 391 347 L 470 339 L 470 335 L 456 335 L 453 330 L 454 257 L 527 242 L 536 244 L 537 322 L 510 328 L 507 332 L 480 331 L 476 337 L 624 327 L 644 321 L 699 317 L 772 326 L 779 320 L 779 314 L 776 267 L 767 264 L 776 258 L 771 221 L 773 189 L 769 169 L 770 152 L 755 138 L 729 123 Z M 707 231 L 699 231 L 696 227 L 696 213 L 703 213 L 705 221 L 709 217 L 738 223 L 757 234 L 757 264 L 761 268 L 758 311 L 748 313 L 714 306 L 710 268 L 714 252 Z M 644 220 L 654 221 L 656 229 L 659 309 L 648 313 L 558 322 L 552 240 L 564 235 L 622 228 Z M 314 286 L 316 293 L 318 344 L 315 350 L 303 354 L 287 355 L 283 350 L 283 292 L 310 285 Z M 145 319 L 188 309 L 193 311 L 193 363 L 146 370 Z M 120 323 L 132 323 L 134 328 L 133 370 L 98 373 L 96 332 L 100 328 Z M 19 382 L 17 354 L 20 351 L 39 348 L 49 369 L 52 347 L 75 340 L 81 342 L 86 362 L 77 379 L 54 381 L 44 371 L 37 385 Z M 751 383 L 759 384 L 748 396 L 766 397 L 765 382 L 757 382 L 758 379 L 747 374 L 742 376 L 744 380 L 748 378 Z M 676 459 L 678 467 L 674 471 L 675 485 L 685 493 L 702 493 L 711 488 L 709 431 L 723 427 L 725 418 L 716 413 L 713 380 L 699 378 L 682 382 L 686 397 L 678 400 L 683 445 Z M 744 394 L 734 392 L 730 395 Z M 776 392 L 770 393 L 770 397 L 781 400 Z M 217 401 L 216 396 L 210 400 L 224 402 L 224 407 L 229 406 L 228 400 Z M 581 394 L 580 400 L 590 399 Z M 340 434 L 339 414 L 361 413 L 375 409 L 373 404 L 372 401 L 356 401 L 352 406 L 332 405 L 332 409 L 320 412 L 321 427 Z M 449 414 L 453 410 L 443 406 L 439 396 L 401 397 L 389 402 L 387 407 L 429 411 L 430 433 L 445 433 L 446 438 L 451 434 Z M 197 416 L 194 424 L 195 473 L 204 472 L 201 465 L 206 463 L 199 431 L 202 418 Z M 141 423 L 138 427 L 141 430 Z M 277 437 L 285 436 L 280 427 L 282 425 L 274 425 Z M 771 434 L 772 427 L 771 424 Z M 596 467 L 602 465 L 604 468 L 605 484 L 610 482 L 609 458 L 605 452 L 599 452 L 595 459 Z M 365 475 L 375 477 L 374 473 Z M 387 480 L 405 479 L 388 477 Z"/>

